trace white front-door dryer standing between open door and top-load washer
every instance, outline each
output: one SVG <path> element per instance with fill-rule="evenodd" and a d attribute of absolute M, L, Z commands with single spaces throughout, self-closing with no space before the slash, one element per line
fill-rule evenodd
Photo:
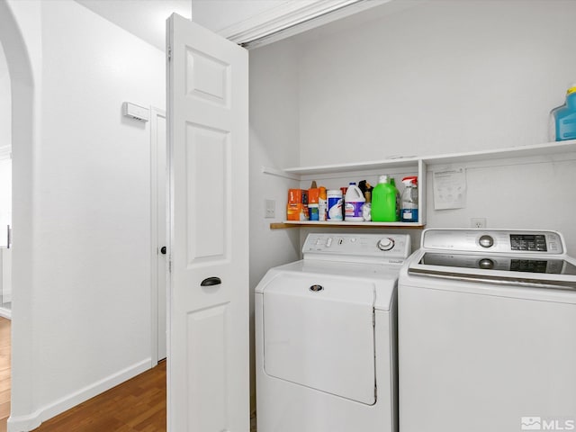
<path fill-rule="evenodd" d="M 258 432 L 396 431 L 410 236 L 310 234 L 302 253 L 256 288 Z"/>

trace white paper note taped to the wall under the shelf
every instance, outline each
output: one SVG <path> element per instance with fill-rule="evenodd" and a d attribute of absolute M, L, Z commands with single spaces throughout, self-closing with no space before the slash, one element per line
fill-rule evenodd
<path fill-rule="evenodd" d="M 462 209 L 466 207 L 466 170 L 449 168 L 435 171 L 434 209 Z"/>

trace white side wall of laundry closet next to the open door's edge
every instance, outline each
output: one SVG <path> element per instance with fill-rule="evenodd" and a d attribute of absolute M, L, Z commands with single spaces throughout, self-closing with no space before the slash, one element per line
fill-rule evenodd
<path fill-rule="evenodd" d="M 275 200 L 276 219 L 284 219 L 287 191 L 298 182 L 262 173 L 262 166 L 276 169 L 298 164 L 298 52 L 291 43 L 250 51 L 250 327 L 254 329 L 254 288 L 266 270 L 298 259 L 297 230 L 270 230 L 265 219 L 265 199 Z M 251 331 L 254 353 L 254 331 Z M 251 391 L 254 407 L 254 358 L 251 358 Z"/>

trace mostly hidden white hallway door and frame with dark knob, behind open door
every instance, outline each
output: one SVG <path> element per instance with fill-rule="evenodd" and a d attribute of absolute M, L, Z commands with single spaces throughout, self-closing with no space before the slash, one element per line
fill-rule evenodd
<path fill-rule="evenodd" d="M 166 358 L 166 112 L 150 109 L 152 365 Z"/>

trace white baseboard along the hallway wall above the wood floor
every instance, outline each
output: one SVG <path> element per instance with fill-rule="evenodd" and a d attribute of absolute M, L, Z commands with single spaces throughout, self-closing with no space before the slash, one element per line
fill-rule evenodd
<path fill-rule="evenodd" d="M 38 428 L 42 421 L 51 419 L 58 414 L 69 410 L 76 405 L 87 401 L 94 396 L 112 389 L 112 387 L 124 383 L 130 378 L 147 371 L 150 368 L 151 359 L 147 358 L 141 362 L 131 365 L 116 374 L 112 374 L 103 380 L 97 381 L 91 385 L 80 389 L 77 392 L 70 393 L 67 396 L 58 399 L 41 407 L 35 412 L 24 416 L 10 416 L 8 418 L 8 432 L 29 432 L 32 429 Z"/>

